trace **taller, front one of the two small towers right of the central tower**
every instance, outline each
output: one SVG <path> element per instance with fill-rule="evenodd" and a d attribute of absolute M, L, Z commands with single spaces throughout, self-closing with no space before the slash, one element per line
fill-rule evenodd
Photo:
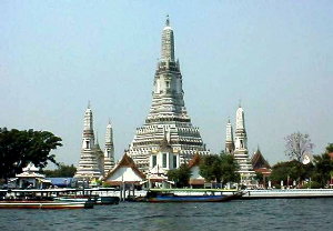
<path fill-rule="evenodd" d="M 251 184 L 254 171 L 248 154 L 248 137 L 245 131 L 244 110 L 240 106 L 236 111 L 234 159 L 240 165 L 241 183 Z"/>

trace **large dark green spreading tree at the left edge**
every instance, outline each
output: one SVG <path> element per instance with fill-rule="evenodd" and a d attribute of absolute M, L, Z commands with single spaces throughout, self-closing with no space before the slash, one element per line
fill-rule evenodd
<path fill-rule="evenodd" d="M 14 177 L 29 162 L 38 168 L 44 168 L 48 161 L 57 164 L 50 151 L 61 145 L 61 138 L 49 131 L 0 128 L 0 178 Z"/>

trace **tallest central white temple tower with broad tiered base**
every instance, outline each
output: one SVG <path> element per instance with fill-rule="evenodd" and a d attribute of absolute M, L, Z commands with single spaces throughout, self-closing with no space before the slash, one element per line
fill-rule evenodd
<path fill-rule="evenodd" d="M 150 112 L 143 127 L 137 129 L 128 150 L 128 154 L 140 170 L 148 171 L 149 157 L 152 151 L 159 149 L 165 132 L 173 153 L 179 154 L 180 163 L 188 162 L 194 153 L 209 153 L 199 129 L 191 123 L 183 94 L 180 64 L 174 59 L 173 30 L 167 18 L 162 31 L 161 59 L 155 71 Z"/>

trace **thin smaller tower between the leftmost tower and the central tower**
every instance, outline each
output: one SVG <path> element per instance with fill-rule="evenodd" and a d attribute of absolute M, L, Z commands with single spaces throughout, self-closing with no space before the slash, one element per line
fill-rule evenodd
<path fill-rule="evenodd" d="M 104 149 L 104 174 L 114 167 L 114 147 L 113 147 L 113 131 L 111 122 L 107 125 L 105 133 L 105 149 Z"/>

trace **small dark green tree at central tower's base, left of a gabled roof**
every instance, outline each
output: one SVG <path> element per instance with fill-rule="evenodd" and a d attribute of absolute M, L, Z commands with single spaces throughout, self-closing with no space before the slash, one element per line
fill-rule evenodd
<path fill-rule="evenodd" d="M 168 179 L 174 181 L 176 188 L 188 187 L 190 178 L 191 169 L 185 163 L 181 164 L 178 169 L 168 171 Z"/>

